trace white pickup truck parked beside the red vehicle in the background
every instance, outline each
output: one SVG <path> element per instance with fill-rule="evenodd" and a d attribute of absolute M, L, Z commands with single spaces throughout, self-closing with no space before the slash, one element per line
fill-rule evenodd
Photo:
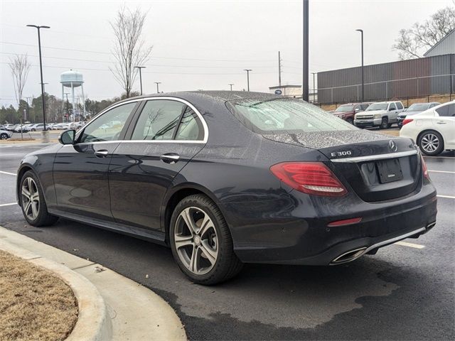
<path fill-rule="evenodd" d="M 365 112 L 355 114 L 354 124 L 360 128 L 379 126 L 380 129 L 390 128 L 397 123 L 397 117 L 405 108 L 402 102 L 376 102 L 370 104 Z"/>

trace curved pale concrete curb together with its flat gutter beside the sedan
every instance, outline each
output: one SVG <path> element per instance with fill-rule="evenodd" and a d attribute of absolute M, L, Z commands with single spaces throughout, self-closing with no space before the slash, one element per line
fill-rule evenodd
<path fill-rule="evenodd" d="M 41 229 L 25 225 L 24 232 Z M 171 306 L 129 278 L 1 226 L 0 249 L 55 272 L 73 289 L 80 317 L 69 341 L 187 340 Z"/>

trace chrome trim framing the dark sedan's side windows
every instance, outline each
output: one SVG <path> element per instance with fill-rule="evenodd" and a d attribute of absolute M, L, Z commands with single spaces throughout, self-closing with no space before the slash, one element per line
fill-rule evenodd
<path fill-rule="evenodd" d="M 186 99 L 181 99 L 181 98 L 178 98 L 178 97 L 171 97 L 171 96 L 141 97 L 141 98 L 137 98 L 137 99 L 132 99 L 132 100 L 127 101 L 127 102 L 121 102 L 121 103 L 113 104 L 111 107 L 106 108 L 105 110 L 100 112 L 100 114 L 97 114 L 95 117 L 93 117 L 90 120 L 89 123 L 87 123 L 87 124 L 85 124 L 85 126 L 83 126 L 83 128 L 85 129 L 87 126 L 92 124 L 92 122 L 95 121 L 95 119 L 100 117 L 102 114 L 105 114 L 110 109 L 114 109 L 116 107 L 119 107 L 120 105 L 134 103 L 134 102 L 140 102 L 140 101 L 144 101 L 144 102 L 150 101 L 150 100 L 151 101 L 156 101 L 156 100 L 159 100 L 159 99 L 167 99 L 167 100 L 171 100 L 171 101 L 181 102 L 183 104 L 188 105 L 188 107 L 190 107 L 191 109 L 193 109 L 193 112 L 195 112 L 196 116 L 198 116 L 198 118 L 200 119 L 200 122 L 202 123 L 203 129 L 204 129 L 204 138 L 203 138 L 203 140 L 200 141 L 200 140 L 132 140 L 132 139 L 129 139 L 129 140 L 114 140 L 114 141 L 82 142 L 81 144 L 109 144 L 109 143 L 114 143 L 114 142 L 127 142 L 127 143 L 132 143 L 132 142 L 137 143 L 137 142 L 139 142 L 139 143 L 151 143 L 151 144 L 156 144 L 156 143 L 164 143 L 164 144 L 206 144 L 207 143 L 207 141 L 208 141 L 208 125 L 205 122 L 205 119 L 203 118 L 202 114 L 200 114 L 199 110 L 196 109 L 196 107 L 194 107 L 194 105 L 191 104 L 190 102 L 188 102 Z M 78 135 L 77 135 L 77 138 L 79 138 Z M 68 145 L 66 145 L 66 146 L 68 146 Z M 69 146 L 74 146 L 74 145 L 69 145 Z"/>

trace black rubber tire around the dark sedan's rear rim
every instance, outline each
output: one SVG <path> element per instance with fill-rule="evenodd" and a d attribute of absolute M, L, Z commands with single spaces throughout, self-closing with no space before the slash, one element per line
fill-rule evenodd
<path fill-rule="evenodd" d="M 190 271 L 187 266 L 183 264 L 183 261 L 180 258 L 181 256 L 179 256 L 176 247 L 175 233 L 176 229 L 178 229 L 178 224 L 180 224 L 181 221 L 181 214 L 183 214 L 184 210 L 190 209 L 190 207 L 192 210 L 200 209 L 203 214 L 208 215 L 211 222 L 213 222 L 213 228 L 216 232 L 216 249 L 218 250 L 218 254 L 216 256 L 213 268 L 210 269 L 210 271 L 208 271 L 206 274 L 195 274 L 193 271 Z M 198 214 L 197 210 L 195 210 L 195 214 Z M 194 218 L 194 220 L 196 221 L 196 218 Z M 190 237 L 192 240 L 195 240 L 191 236 L 188 237 Z M 202 239 L 203 238 L 201 235 L 200 240 Z M 194 283 L 210 286 L 216 283 L 221 283 L 223 281 L 228 281 L 230 278 L 234 277 L 242 270 L 243 264 L 234 253 L 232 237 L 230 235 L 228 224 L 226 224 L 226 221 L 217 205 L 215 205 L 215 202 L 210 200 L 210 198 L 206 197 L 205 195 L 190 195 L 181 200 L 181 202 L 178 202 L 178 205 L 173 211 L 171 217 L 171 225 L 169 227 L 169 242 L 171 244 L 173 258 L 176 260 L 176 263 L 180 267 L 183 274 L 190 278 L 190 280 Z M 198 248 L 195 245 L 196 244 L 193 243 L 192 246 L 188 245 L 188 247 L 194 252 L 194 248 L 196 248 L 196 250 Z M 202 247 L 199 248 L 202 249 Z"/>

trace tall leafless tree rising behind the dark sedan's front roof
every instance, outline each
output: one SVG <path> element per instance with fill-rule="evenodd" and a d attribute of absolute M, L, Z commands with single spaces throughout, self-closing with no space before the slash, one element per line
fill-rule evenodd
<path fill-rule="evenodd" d="M 152 46 L 147 46 L 142 39 L 142 28 L 147 13 L 139 9 L 129 11 L 122 7 L 117 13 L 115 21 L 110 25 L 114 30 L 115 46 L 112 50 L 116 64 L 109 67 L 114 77 L 122 85 L 123 90 L 130 97 L 137 69 L 134 66 L 143 65 L 149 60 Z"/>

